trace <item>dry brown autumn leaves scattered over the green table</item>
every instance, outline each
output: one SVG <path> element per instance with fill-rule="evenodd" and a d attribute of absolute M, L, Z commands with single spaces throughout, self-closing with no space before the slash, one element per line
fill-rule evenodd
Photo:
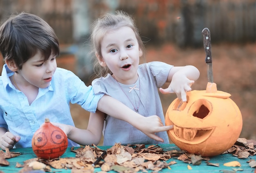
<path fill-rule="evenodd" d="M 256 155 L 256 141 L 246 140 L 245 138 L 238 138 L 236 144 L 227 150 L 225 153 L 230 153 L 238 158 L 247 158 L 249 155 Z M 40 158 L 33 158 L 26 160 L 23 165 L 17 163 L 16 167 L 23 167 L 19 173 L 24 173 L 30 170 L 44 170 L 52 172 L 55 169 L 72 169 L 73 173 L 92 173 L 94 172 L 93 163 L 97 158 L 102 157 L 104 150 L 97 146 L 85 146 L 71 151 L 76 153 L 76 157 L 57 158 L 52 160 L 43 160 Z M 11 153 L 6 150 L 4 153 L 0 151 L 0 164 L 7 164 L 5 158 L 16 157 L 19 153 Z M 164 150 L 159 145 L 128 145 L 124 146 L 119 143 L 107 149 L 107 154 L 104 160 L 101 160 L 95 167 L 101 167 L 101 172 L 117 171 L 119 173 L 135 173 L 138 171 L 147 172 L 146 170 L 160 171 L 161 169 L 171 169 L 170 165 L 176 164 L 175 161 L 166 162 L 170 158 L 182 160 L 183 162 L 200 165 L 202 160 L 205 160 L 207 165 L 219 166 L 218 163 L 210 163 L 210 158 L 201 157 L 187 153 L 181 150 Z M 225 166 L 239 166 L 239 162 L 229 162 Z M 249 166 L 255 168 L 256 161 L 250 160 Z M 188 165 L 188 169 L 191 167 Z M 242 171 L 242 170 L 239 170 Z"/>

